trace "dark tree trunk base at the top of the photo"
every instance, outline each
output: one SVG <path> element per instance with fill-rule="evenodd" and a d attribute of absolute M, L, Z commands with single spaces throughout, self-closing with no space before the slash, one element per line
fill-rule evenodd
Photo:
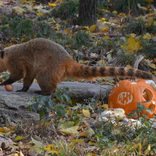
<path fill-rule="evenodd" d="M 79 1 L 79 18 L 80 25 L 96 24 L 97 0 L 80 0 Z"/>

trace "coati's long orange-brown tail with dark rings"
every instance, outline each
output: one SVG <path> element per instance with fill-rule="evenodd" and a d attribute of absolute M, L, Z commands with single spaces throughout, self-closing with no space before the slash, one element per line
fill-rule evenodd
<path fill-rule="evenodd" d="M 136 77 L 156 81 L 156 77 L 148 72 L 126 67 L 93 67 L 71 61 L 67 65 L 67 76 L 72 78 L 94 79 L 96 77 Z"/>

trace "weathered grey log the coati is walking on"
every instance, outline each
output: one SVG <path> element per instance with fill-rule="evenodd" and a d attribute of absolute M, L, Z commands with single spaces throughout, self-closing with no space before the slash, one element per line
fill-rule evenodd
<path fill-rule="evenodd" d="M 70 88 L 69 95 L 71 98 L 81 100 L 95 96 L 106 97 L 112 89 L 112 86 L 109 85 L 78 82 L 62 82 L 58 85 L 58 88 L 65 86 Z M 27 92 L 16 92 L 16 90 L 20 90 L 23 87 L 23 83 L 14 83 L 13 87 L 13 91 L 7 92 L 4 86 L 0 86 L 0 120 L 4 120 L 4 122 L 7 118 L 22 121 L 38 120 L 38 114 L 29 112 L 27 109 L 28 106 L 33 104 L 33 98 L 39 97 L 38 94 L 34 93 L 35 90 L 40 90 L 38 84 L 33 83 Z"/>

